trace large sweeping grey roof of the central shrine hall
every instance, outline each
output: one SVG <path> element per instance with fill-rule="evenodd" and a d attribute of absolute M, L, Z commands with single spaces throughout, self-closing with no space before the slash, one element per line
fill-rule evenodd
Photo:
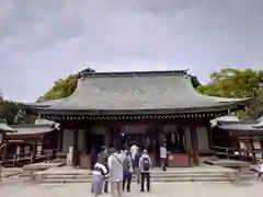
<path fill-rule="evenodd" d="M 124 114 L 227 111 L 249 99 L 226 99 L 197 93 L 186 70 L 82 73 L 69 97 L 34 106 L 42 114 Z"/>

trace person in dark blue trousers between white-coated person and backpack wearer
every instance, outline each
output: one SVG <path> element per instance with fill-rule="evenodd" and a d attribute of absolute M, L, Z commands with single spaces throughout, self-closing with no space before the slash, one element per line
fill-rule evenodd
<path fill-rule="evenodd" d="M 125 186 L 126 186 L 126 189 L 127 189 L 127 193 L 130 192 L 130 184 L 132 184 L 132 177 L 133 177 L 133 160 L 132 160 L 132 155 L 130 155 L 130 152 L 127 151 L 126 152 L 126 155 L 125 155 L 125 159 L 124 159 L 124 162 L 123 162 L 123 175 L 124 175 L 124 178 L 123 178 L 123 190 L 125 190 Z"/>

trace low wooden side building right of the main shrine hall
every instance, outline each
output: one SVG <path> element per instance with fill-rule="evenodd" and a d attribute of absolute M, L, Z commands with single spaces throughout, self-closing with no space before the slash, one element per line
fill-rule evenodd
<path fill-rule="evenodd" d="M 218 120 L 213 127 L 214 148 L 219 154 L 227 149 L 236 152 L 236 158 L 256 162 L 263 159 L 262 120 Z"/>

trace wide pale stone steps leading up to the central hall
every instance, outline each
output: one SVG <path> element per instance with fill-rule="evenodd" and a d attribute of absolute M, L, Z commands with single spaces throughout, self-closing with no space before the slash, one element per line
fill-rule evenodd
<path fill-rule="evenodd" d="M 165 172 L 153 169 L 151 181 L 161 182 L 224 182 L 230 183 L 239 178 L 239 172 L 221 166 L 202 165 L 196 167 L 169 167 Z M 32 176 L 35 183 L 89 183 L 91 171 L 70 166 L 50 167 L 36 172 Z M 135 178 L 133 178 L 135 181 Z"/>

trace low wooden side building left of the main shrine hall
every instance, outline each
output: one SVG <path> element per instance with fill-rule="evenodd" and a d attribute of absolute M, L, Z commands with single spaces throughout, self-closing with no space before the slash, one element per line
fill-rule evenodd
<path fill-rule="evenodd" d="M 52 125 L 5 125 L 4 130 L 1 163 L 5 166 L 44 161 L 57 152 L 58 128 Z"/>

